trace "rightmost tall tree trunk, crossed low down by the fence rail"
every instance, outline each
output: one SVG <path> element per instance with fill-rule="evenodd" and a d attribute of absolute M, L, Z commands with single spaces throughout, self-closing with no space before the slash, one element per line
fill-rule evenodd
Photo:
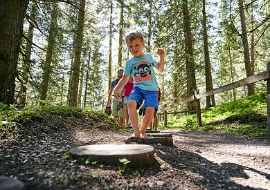
<path fill-rule="evenodd" d="M 241 19 L 241 28 L 242 28 L 242 41 L 243 41 L 243 47 L 244 47 L 244 65 L 246 68 L 246 77 L 252 76 L 254 73 L 252 73 L 251 69 L 251 61 L 249 59 L 249 42 L 248 37 L 246 33 L 246 18 L 244 15 L 244 7 L 243 7 L 243 0 L 239 0 L 239 8 L 240 8 L 240 19 Z M 248 84 L 248 95 L 254 94 L 254 84 Z"/>

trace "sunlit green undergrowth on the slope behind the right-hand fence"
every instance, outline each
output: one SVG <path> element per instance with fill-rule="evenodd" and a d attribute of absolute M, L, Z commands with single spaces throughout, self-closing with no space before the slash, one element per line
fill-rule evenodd
<path fill-rule="evenodd" d="M 257 93 L 201 112 L 202 126 L 194 115 L 175 115 L 167 128 L 179 130 L 222 131 L 234 135 L 267 137 L 267 93 Z M 159 126 L 164 128 L 160 122 Z"/>

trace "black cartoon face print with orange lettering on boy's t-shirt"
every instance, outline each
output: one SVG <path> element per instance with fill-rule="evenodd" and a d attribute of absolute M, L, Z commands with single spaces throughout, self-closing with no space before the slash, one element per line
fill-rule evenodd
<path fill-rule="evenodd" d="M 135 82 L 151 81 L 152 80 L 152 71 L 151 67 L 153 64 L 150 64 L 148 61 L 139 61 L 134 66 L 136 72 L 134 73 Z"/>

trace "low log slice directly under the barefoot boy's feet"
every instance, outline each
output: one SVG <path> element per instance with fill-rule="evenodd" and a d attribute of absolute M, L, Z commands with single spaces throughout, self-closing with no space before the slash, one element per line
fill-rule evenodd
<path fill-rule="evenodd" d="M 125 140 L 125 144 L 136 142 L 138 144 L 163 144 L 165 146 L 173 146 L 172 137 L 149 137 L 147 139 L 129 139 Z"/>

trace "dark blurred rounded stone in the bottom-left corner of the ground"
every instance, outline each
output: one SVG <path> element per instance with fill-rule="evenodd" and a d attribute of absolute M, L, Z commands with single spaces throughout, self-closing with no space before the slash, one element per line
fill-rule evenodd
<path fill-rule="evenodd" d="M 0 176 L 0 189 L 1 190 L 24 190 L 26 189 L 26 187 L 24 183 L 19 180 Z"/>

